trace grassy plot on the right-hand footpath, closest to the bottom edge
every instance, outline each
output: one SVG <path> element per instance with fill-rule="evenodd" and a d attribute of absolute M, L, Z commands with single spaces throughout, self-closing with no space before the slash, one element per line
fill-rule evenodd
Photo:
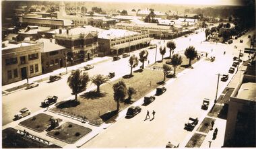
<path fill-rule="evenodd" d="M 185 148 L 199 148 L 201 144 L 203 143 L 203 140 L 205 139 L 206 135 L 203 134 L 193 134 L 189 142 L 187 142 L 187 145 Z"/>

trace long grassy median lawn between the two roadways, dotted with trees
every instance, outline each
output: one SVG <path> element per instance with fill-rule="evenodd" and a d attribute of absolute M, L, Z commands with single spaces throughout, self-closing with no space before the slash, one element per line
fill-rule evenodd
<path fill-rule="evenodd" d="M 72 107 L 53 107 L 53 111 L 68 111 L 75 115 L 85 115 L 90 123 L 94 125 L 100 125 L 104 121 L 107 121 L 112 114 L 112 111 L 117 109 L 117 103 L 113 98 L 113 84 L 118 81 L 125 81 L 125 84 L 128 87 L 133 87 L 137 90 L 137 94 L 133 95 L 133 99 L 137 101 L 141 97 L 145 96 L 147 93 L 150 93 L 153 89 L 158 87 L 158 83 L 163 81 L 164 74 L 161 71 L 144 69 L 143 71 L 136 70 L 133 72 L 133 77 L 123 77 L 113 81 L 112 83 L 106 83 L 100 86 L 100 92 L 102 95 L 99 97 L 92 96 L 91 93 L 84 93 L 80 95 L 77 99 L 79 104 Z M 168 79 L 166 78 L 166 81 Z M 129 104 L 124 102 L 120 103 L 120 110 L 128 107 Z M 109 115 L 109 116 L 108 116 Z"/>

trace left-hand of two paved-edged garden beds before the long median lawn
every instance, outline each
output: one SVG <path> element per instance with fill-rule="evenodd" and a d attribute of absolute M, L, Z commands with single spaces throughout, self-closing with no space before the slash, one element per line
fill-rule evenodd
<path fill-rule="evenodd" d="M 44 130 L 49 127 L 51 118 L 51 115 L 39 113 L 38 115 L 34 115 L 33 117 L 30 117 L 19 124 L 36 132 L 44 132 Z M 62 119 L 58 120 L 59 122 L 62 121 Z"/>

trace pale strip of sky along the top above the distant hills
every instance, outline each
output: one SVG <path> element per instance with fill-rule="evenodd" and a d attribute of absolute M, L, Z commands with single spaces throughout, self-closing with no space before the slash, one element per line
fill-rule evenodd
<path fill-rule="evenodd" d="M 92 1 L 92 0 L 86 0 Z M 172 3 L 187 5 L 240 5 L 243 0 L 93 0 L 104 2 Z"/>

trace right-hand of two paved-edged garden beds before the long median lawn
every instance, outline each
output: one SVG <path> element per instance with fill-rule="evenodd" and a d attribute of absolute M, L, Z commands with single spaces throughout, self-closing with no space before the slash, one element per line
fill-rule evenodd
<path fill-rule="evenodd" d="M 51 130 L 46 135 L 63 142 L 67 142 L 68 144 L 73 144 L 91 131 L 92 130 L 90 128 L 85 128 L 75 123 L 66 122 L 63 123 L 59 128 Z"/>

